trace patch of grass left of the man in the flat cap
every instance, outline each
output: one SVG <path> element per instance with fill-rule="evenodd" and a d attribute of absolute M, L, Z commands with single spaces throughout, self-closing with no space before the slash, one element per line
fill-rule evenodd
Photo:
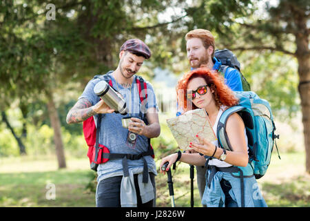
<path fill-rule="evenodd" d="M 52 158 L 1 160 L 0 206 L 95 206 L 94 193 L 86 189 L 93 175 L 87 159 L 67 164 L 58 170 Z"/>

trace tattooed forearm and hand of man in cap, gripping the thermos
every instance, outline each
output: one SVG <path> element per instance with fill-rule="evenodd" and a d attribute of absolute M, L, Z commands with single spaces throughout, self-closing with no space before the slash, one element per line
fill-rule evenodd
<path fill-rule="evenodd" d="M 67 115 L 67 123 L 75 124 L 85 121 L 85 119 L 96 115 L 97 113 L 113 113 L 111 109 L 103 100 L 92 106 L 92 103 L 86 99 L 79 99 L 71 108 Z"/>

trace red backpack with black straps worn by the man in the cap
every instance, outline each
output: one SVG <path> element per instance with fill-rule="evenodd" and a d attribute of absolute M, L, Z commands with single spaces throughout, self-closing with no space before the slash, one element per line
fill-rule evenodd
<path fill-rule="evenodd" d="M 111 73 L 111 71 L 108 72 L 107 74 L 109 73 Z M 94 76 L 94 79 L 100 78 L 106 81 L 112 87 L 112 80 L 110 79 L 110 77 L 107 76 L 107 74 L 96 75 Z M 140 102 L 143 103 L 145 99 L 147 99 L 147 93 L 145 93 L 147 90 L 144 90 L 144 89 L 147 89 L 147 84 L 144 81 L 144 79 L 140 76 L 136 77 L 136 84 L 138 85 Z M 149 138 L 147 139 L 148 150 L 143 153 L 136 154 L 136 155 L 125 154 L 125 153 L 110 153 L 109 149 L 106 146 L 99 144 L 99 139 L 97 139 L 99 138 L 101 118 L 102 118 L 102 115 L 98 114 L 97 124 L 95 124 L 94 116 L 89 117 L 88 119 L 85 119 L 85 121 L 83 122 L 83 133 L 84 133 L 85 141 L 88 145 L 87 157 L 90 159 L 90 168 L 92 170 L 97 171 L 97 167 L 99 164 L 103 164 L 111 159 L 119 159 L 119 158 L 125 157 L 129 160 L 138 160 L 141 157 L 146 156 L 146 155 L 152 155 L 153 158 L 155 157 L 154 149 L 152 148 L 151 140 Z M 144 119 L 144 121 L 147 123 L 146 119 Z M 123 167 L 127 167 L 127 166 L 123 165 Z M 127 168 L 124 170 L 124 174 L 125 173 L 127 174 Z"/>

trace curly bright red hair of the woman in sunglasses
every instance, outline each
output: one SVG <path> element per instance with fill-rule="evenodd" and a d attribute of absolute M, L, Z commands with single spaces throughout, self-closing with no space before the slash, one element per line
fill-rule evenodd
<path fill-rule="evenodd" d="M 189 107 L 187 106 L 188 99 L 186 97 L 187 85 L 190 80 L 196 77 L 203 77 L 209 87 L 214 89 L 214 99 L 216 100 L 218 107 L 221 105 L 231 107 L 238 104 L 238 98 L 234 95 L 234 92 L 224 83 L 224 78 L 221 75 L 219 75 L 216 71 L 210 71 L 207 68 L 197 68 L 183 75 L 176 86 L 178 104 L 179 106 L 183 106 L 185 111 L 189 111 L 187 110 Z M 192 109 L 196 108 L 197 107 L 192 104 Z"/>

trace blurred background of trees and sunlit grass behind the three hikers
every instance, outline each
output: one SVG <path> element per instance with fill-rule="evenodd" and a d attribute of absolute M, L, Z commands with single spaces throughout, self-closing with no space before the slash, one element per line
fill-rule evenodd
<path fill-rule="evenodd" d="M 232 50 L 251 89 L 271 104 L 282 160 L 273 157 L 259 182 L 267 204 L 310 206 L 309 12 L 307 0 L 2 0 L 0 206 L 94 206 L 82 124 L 65 117 L 94 75 L 116 68 L 130 38 L 152 50 L 138 75 L 161 109 L 157 163 L 176 151 L 165 119 L 176 113 L 176 81 L 189 70 L 184 37 L 195 28 Z M 189 182 L 187 165 L 179 168 L 176 180 Z M 169 206 L 166 177 L 156 179 L 158 206 Z M 49 183 L 62 201 L 47 200 Z M 188 188 L 178 187 L 189 206 Z"/>

